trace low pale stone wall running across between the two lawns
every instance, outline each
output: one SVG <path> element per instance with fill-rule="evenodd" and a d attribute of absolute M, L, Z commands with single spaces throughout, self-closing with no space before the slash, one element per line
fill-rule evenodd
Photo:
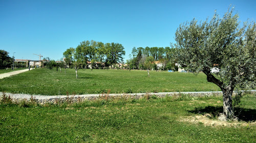
<path fill-rule="evenodd" d="M 256 90 L 250 92 L 255 93 Z M 166 96 L 221 96 L 222 92 L 164 92 L 164 93 L 135 93 L 135 94 L 87 94 L 87 95 L 57 95 L 57 96 L 43 96 L 43 95 L 28 95 L 28 94 L 11 94 L 11 93 L 0 93 L 1 100 L 4 97 L 10 97 L 12 101 L 19 102 L 21 100 L 35 101 L 39 104 L 45 103 L 60 103 L 60 102 L 82 102 L 85 100 L 97 100 L 104 98 L 131 98 L 139 99 L 147 96 L 157 96 L 158 98 Z"/>

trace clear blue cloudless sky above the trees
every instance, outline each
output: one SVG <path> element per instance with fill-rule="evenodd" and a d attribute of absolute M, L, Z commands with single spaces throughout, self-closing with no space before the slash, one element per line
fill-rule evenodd
<path fill-rule="evenodd" d="M 175 43 L 180 23 L 220 16 L 229 5 L 240 20 L 255 21 L 256 1 L 7 1 L 0 0 L 0 49 L 15 59 L 37 60 L 42 54 L 62 58 L 84 40 L 124 46 L 125 60 L 133 47 L 166 47 Z"/>

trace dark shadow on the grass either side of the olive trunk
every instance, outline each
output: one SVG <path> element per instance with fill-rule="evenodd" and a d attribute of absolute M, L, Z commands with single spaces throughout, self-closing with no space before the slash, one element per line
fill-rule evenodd
<path fill-rule="evenodd" d="M 206 113 L 212 115 L 213 118 L 218 118 L 220 113 L 223 112 L 222 106 L 206 106 L 188 110 L 188 112 L 205 115 Z M 256 109 L 248 109 L 243 107 L 235 107 L 234 115 L 245 122 L 254 121 L 256 118 Z"/>

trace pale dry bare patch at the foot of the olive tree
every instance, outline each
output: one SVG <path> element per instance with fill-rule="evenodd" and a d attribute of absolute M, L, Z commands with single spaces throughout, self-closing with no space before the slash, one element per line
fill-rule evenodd
<path fill-rule="evenodd" d="M 223 127 L 250 127 L 250 126 L 256 126 L 256 122 L 243 122 L 243 121 L 232 121 L 232 122 L 225 122 L 225 121 L 219 121 L 219 120 L 213 120 L 209 119 L 211 118 L 211 115 L 205 114 L 205 115 L 197 115 L 197 116 L 188 116 L 188 117 L 181 117 L 181 122 L 190 122 L 190 123 L 201 123 L 204 124 L 204 126 L 223 126 Z"/>

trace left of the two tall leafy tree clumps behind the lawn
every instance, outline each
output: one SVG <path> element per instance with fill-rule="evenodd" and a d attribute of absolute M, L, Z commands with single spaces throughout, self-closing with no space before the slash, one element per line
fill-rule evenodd
<path fill-rule="evenodd" d="M 114 66 L 117 63 L 123 63 L 125 55 L 124 47 L 119 43 L 103 43 L 91 41 L 82 41 L 76 48 L 69 48 L 63 52 L 65 65 L 77 70 L 79 68 L 105 68 Z"/>

